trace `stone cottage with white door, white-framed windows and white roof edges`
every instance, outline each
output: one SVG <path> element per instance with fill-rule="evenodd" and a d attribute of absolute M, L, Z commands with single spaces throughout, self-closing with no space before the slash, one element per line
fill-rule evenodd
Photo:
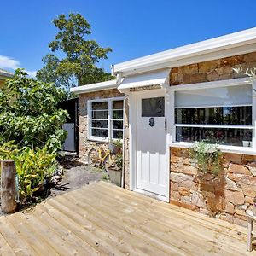
<path fill-rule="evenodd" d="M 235 224 L 256 196 L 256 28 L 113 65 L 116 80 L 79 95 L 79 155 L 124 142 L 123 186 Z M 217 143 L 223 170 L 198 176 L 196 141 Z"/>

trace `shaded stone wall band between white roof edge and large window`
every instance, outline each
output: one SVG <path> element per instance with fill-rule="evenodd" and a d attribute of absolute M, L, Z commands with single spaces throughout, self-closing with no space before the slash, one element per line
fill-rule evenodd
<path fill-rule="evenodd" d="M 256 52 L 236 55 L 216 61 L 205 61 L 183 67 L 173 67 L 170 73 L 170 84 L 195 84 L 224 79 L 236 79 L 243 75 L 234 73 L 233 68 L 256 67 Z"/>

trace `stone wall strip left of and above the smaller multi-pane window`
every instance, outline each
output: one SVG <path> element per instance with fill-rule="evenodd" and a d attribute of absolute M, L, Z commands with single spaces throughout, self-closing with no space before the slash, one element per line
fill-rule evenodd
<path fill-rule="evenodd" d="M 91 93 L 84 93 L 79 95 L 79 158 L 82 161 L 87 161 L 87 154 L 90 148 L 96 147 L 96 142 L 90 141 L 87 138 L 88 124 L 87 124 L 87 101 L 102 98 L 112 98 L 124 96 L 117 89 L 101 90 Z M 107 143 L 102 143 L 107 145 Z"/>

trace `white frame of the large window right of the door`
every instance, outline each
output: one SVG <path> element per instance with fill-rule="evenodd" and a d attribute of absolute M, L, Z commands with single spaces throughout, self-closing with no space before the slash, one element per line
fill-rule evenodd
<path fill-rule="evenodd" d="M 199 90 L 199 89 L 207 89 L 207 88 L 221 88 L 227 86 L 242 86 L 243 84 L 252 84 L 252 125 L 185 125 L 185 124 L 175 124 L 175 92 L 181 90 Z M 252 147 L 239 147 L 239 146 L 230 146 L 230 145 L 218 145 L 223 152 L 230 153 L 241 153 L 241 154 L 253 154 L 256 155 L 256 81 L 252 81 L 248 78 L 242 79 L 230 79 L 230 80 L 219 80 L 214 82 L 206 82 L 200 84 L 183 84 L 170 86 L 169 89 L 170 94 L 170 109 L 169 113 L 171 113 L 170 123 L 170 138 L 169 138 L 169 146 L 177 147 L 177 148 L 191 148 L 193 143 L 187 142 L 177 142 L 176 141 L 176 127 L 177 126 L 195 126 L 195 127 L 212 127 L 212 128 L 243 128 L 243 129 L 253 129 L 253 142 Z M 245 105 L 243 105 L 245 106 Z M 248 105 L 247 105 L 248 106 Z M 216 106 L 214 106 L 216 107 Z M 177 107 L 178 108 L 178 107 Z M 195 108 L 195 107 L 193 107 Z M 207 107 L 208 108 L 208 107 Z"/>

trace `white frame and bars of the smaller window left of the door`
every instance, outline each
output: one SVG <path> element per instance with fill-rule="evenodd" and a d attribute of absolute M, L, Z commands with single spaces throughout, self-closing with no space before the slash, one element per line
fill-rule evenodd
<path fill-rule="evenodd" d="M 123 118 L 122 119 L 113 119 L 112 103 L 115 101 L 123 101 Z M 91 125 L 90 121 L 95 120 L 90 118 L 91 104 L 94 102 L 108 102 L 108 119 L 98 119 L 98 120 L 108 120 L 108 137 L 97 137 L 91 135 Z M 113 121 L 118 120 L 123 122 L 123 135 L 124 135 L 124 120 L 125 120 L 125 97 L 113 97 L 113 98 L 99 98 L 94 100 L 87 101 L 87 139 L 90 141 L 108 143 L 110 140 L 118 140 L 113 138 Z M 104 129 L 107 130 L 107 129 Z M 121 139 L 122 141 L 123 139 Z"/>

